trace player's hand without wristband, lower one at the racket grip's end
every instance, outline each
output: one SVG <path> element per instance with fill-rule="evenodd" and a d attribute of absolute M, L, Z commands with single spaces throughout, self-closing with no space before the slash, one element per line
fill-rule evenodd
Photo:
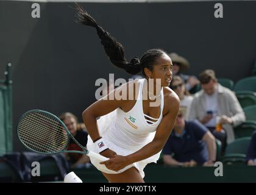
<path fill-rule="evenodd" d="M 100 164 L 105 165 L 108 169 L 113 171 L 119 171 L 129 165 L 126 157 L 121 155 L 113 155 L 109 160 L 102 161 Z"/>

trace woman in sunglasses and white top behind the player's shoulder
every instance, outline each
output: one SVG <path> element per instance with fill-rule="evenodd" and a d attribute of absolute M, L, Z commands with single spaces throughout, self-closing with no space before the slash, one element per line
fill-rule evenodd
<path fill-rule="evenodd" d="M 193 96 L 185 89 L 185 83 L 179 76 L 172 77 L 171 89 L 179 96 L 180 98 L 180 107 L 185 110 L 185 119 L 188 119 L 188 113 L 190 111 L 190 105 L 193 101 Z"/>

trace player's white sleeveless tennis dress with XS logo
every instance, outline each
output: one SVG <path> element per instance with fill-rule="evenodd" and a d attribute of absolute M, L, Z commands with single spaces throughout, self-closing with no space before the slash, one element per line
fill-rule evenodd
<path fill-rule="evenodd" d="M 105 144 L 109 149 L 115 151 L 118 155 L 126 156 L 132 154 L 151 142 L 154 138 L 155 131 L 163 118 L 163 88 L 161 90 L 160 117 L 155 119 L 143 113 L 142 91 L 144 79 L 140 79 L 139 82 L 140 90 L 138 93 L 137 102 L 129 112 L 124 112 L 121 108 L 116 108 L 116 110 L 113 112 L 101 116 L 101 118 L 97 121 L 99 134 L 101 137 L 104 137 Z M 146 119 L 145 116 L 146 118 L 153 119 L 156 122 Z M 93 152 L 98 151 L 89 135 L 87 149 Z M 118 174 L 126 171 L 132 166 L 135 166 L 143 178 L 144 167 L 148 163 L 157 163 L 159 157 L 160 152 L 152 157 L 132 163 L 118 172 L 108 169 L 105 165 L 99 164 L 100 161 L 96 160 L 95 158 L 90 158 L 90 160 L 99 171 L 107 174 Z"/>

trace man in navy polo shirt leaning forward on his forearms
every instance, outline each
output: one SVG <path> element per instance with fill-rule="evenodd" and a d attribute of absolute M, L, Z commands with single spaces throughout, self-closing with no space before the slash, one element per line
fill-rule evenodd
<path fill-rule="evenodd" d="M 171 166 L 213 166 L 215 160 L 215 137 L 200 122 L 185 121 L 180 109 L 174 129 L 163 147 L 164 163 Z"/>

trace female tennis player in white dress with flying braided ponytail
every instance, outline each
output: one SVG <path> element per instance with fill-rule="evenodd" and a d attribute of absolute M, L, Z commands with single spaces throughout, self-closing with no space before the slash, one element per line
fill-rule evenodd
<path fill-rule="evenodd" d="M 91 158 L 91 163 L 108 182 L 144 182 L 143 169 L 148 163 L 157 162 L 179 112 L 179 97 L 168 87 L 172 79 L 171 59 L 165 51 L 151 49 L 140 59 L 134 57 L 127 62 L 121 43 L 77 6 L 78 21 L 97 30 L 113 65 L 130 74 L 142 71 L 145 77 L 124 83 L 83 112 L 89 133 L 87 149 L 110 158 L 102 162 Z M 153 93 L 147 85 L 149 81 L 154 83 Z M 124 92 L 125 98 L 115 97 Z M 159 104 L 152 106 L 157 101 Z M 101 118 L 97 121 L 98 117 Z"/>

